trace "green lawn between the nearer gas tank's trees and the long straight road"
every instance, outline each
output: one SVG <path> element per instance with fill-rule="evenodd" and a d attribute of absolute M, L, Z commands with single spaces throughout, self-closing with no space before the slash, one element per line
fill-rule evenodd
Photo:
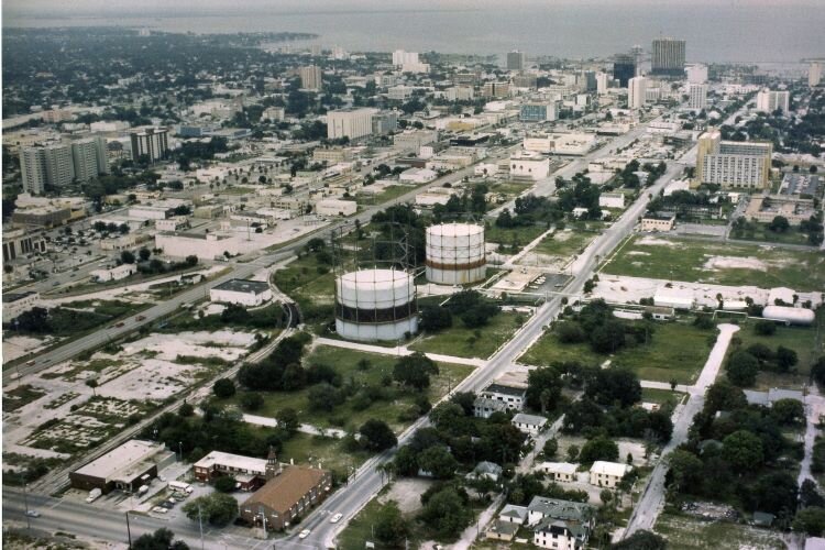
<path fill-rule="evenodd" d="M 424 334 L 409 348 L 427 353 L 440 353 L 457 358 L 487 359 L 527 320 L 521 314 L 499 312 L 490 319 L 486 327 L 468 329 L 453 317 L 453 326 L 432 336 Z"/>

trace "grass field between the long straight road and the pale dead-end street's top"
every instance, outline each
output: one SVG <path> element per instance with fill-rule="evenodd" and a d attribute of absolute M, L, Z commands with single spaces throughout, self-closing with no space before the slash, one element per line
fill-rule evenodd
<path fill-rule="evenodd" d="M 594 353 L 586 343 L 562 344 L 552 332 L 544 333 L 520 362 L 530 365 L 549 365 L 554 362 L 578 361 L 585 365 L 631 369 L 641 380 L 692 384 L 705 364 L 716 332 L 700 330 L 681 322 L 657 323 L 649 344 L 630 345 L 614 355 Z"/>

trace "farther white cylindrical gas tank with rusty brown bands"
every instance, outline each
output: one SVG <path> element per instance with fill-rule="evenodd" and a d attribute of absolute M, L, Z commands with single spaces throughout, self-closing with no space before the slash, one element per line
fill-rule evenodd
<path fill-rule="evenodd" d="M 427 228 L 427 279 L 440 285 L 464 285 L 483 280 L 487 258 L 484 227 L 441 223 Z"/>

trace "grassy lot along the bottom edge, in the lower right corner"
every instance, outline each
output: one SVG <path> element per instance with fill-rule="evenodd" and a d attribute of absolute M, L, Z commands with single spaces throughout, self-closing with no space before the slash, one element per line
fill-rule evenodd
<path fill-rule="evenodd" d="M 669 550 L 785 548 L 776 531 L 723 521 L 702 521 L 690 516 L 662 514 L 653 530 L 668 539 Z"/>

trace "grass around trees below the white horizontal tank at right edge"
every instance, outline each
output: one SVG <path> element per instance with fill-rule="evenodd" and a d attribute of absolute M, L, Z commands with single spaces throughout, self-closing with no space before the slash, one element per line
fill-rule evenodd
<path fill-rule="evenodd" d="M 790 348 L 796 352 L 799 363 L 793 373 L 774 373 L 762 371 L 756 382 L 756 388 L 768 389 L 771 387 L 783 387 L 790 389 L 802 389 L 807 383 L 811 364 L 823 354 L 825 348 L 825 316 L 818 316 L 820 327 L 777 327 L 777 332 L 770 337 L 758 336 L 754 331 L 754 322 L 741 323 L 741 329 L 734 336 L 736 341 L 741 342 L 743 348 L 755 343 L 762 343 L 776 350 L 780 345 Z"/>

